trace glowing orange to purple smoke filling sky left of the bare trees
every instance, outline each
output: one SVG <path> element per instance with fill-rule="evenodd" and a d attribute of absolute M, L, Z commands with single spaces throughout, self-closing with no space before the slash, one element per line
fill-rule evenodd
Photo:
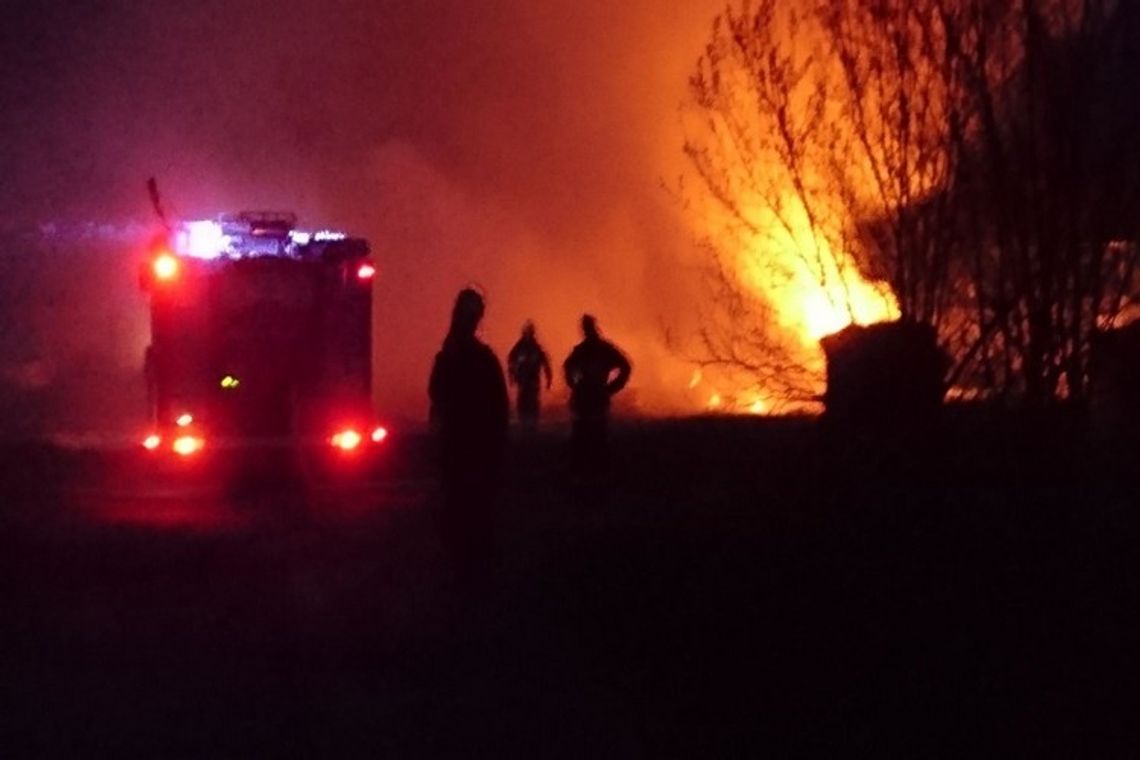
<path fill-rule="evenodd" d="M 676 6 L 27 3 L 2 32 L 16 105 L 0 115 L 0 218 L 146 219 L 149 175 L 186 218 L 291 209 L 374 244 L 382 409 L 423 415 L 450 300 L 477 283 L 500 354 L 534 318 L 561 359 L 591 311 L 633 354 L 633 394 L 660 411 L 683 402 L 690 371 L 663 330 L 695 294 L 661 183 L 681 171 L 677 107 L 720 3 Z M 130 246 L 88 255 L 133 283 Z M 106 297 L 72 293 L 44 344 L 21 350 L 63 356 L 67 321 Z M 135 356 L 124 335 L 138 342 L 145 322 L 84 340 Z"/>

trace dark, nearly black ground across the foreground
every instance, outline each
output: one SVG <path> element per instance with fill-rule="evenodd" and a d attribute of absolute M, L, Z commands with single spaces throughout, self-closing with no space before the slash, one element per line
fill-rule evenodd
<path fill-rule="evenodd" d="M 1131 754 L 1137 451 L 948 427 L 628 425 L 594 483 L 516 441 L 475 591 L 423 441 L 237 496 L 10 449 L 0 755 Z"/>

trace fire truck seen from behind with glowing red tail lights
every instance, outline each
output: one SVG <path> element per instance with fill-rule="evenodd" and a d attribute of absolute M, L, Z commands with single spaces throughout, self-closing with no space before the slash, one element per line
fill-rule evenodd
<path fill-rule="evenodd" d="M 168 226 L 140 270 L 150 311 L 144 448 L 174 459 L 376 449 L 388 431 L 372 406 L 375 273 L 367 240 L 298 229 L 292 213 Z"/>

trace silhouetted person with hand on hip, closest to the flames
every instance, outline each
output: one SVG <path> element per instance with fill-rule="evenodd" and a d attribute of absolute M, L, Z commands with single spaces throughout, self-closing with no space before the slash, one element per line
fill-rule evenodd
<path fill-rule="evenodd" d="M 570 386 L 570 433 L 573 466 L 595 469 L 605 461 L 606 423 L 610 397 L 629 382 L 629 360 L 597 333 L 597 320 L 583 314 L 585 340 L 573 348 L 563 365 Z"/>

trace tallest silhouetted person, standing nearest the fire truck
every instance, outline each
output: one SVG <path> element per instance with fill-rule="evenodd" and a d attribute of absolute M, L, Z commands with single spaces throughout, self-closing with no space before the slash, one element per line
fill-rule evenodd
<path fill-rule="evenodd" d="M 498 358 L 475 336 L 483 299 L 459 292 L 429 395 L 443 477 L 440 531 L 459 581 L 479 583 L 494 554 L 494 509 L 510 401 Z"/>

